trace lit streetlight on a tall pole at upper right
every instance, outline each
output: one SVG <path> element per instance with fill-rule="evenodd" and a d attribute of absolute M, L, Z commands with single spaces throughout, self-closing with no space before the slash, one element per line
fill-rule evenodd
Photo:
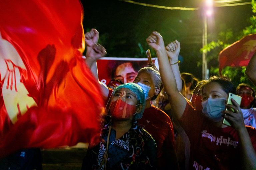
<path fill-rule="evenodd" d="M 207 44 L 207 17 L 210 17 L 213 14 L 213 0 L 205 0 L 203 5 L 203 36 L 202 44 L 203 47 Z M 202 55 L 202 79 L 209 78 L 209 69 L 207 68 L 207 51 L 203 50 Z"/>

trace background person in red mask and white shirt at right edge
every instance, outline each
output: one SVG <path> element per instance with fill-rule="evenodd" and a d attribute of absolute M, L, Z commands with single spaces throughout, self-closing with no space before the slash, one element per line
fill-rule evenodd
<path fill-rule="evenodd" d="M 244 124 L 256 128 L 256 108 L 253 108 L 255 103 L 255 90 L 248 84 L 239 84 L 236 88 L 237 95 L 242 97 L 241 111 L 243 113 Z"/>

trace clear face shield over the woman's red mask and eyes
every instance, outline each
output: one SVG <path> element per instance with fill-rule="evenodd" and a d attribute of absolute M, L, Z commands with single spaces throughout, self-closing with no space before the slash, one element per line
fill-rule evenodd
<path fill-rule="evenodd" d="M 136 114 L 136 104 L 136 94 L 127 88 L 121 88 L 111 94 L 105 111 L 115 120 L 131 120 Z"/>

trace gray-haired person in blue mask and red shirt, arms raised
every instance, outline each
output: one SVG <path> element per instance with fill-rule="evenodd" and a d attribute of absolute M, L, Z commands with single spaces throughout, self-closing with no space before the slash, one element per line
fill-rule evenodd
<path fill-rule="evenodd" d="M 90 42 L 95 39 L 94 43 L 96 43 L 96 37 L 98 37 L 98 32 L 95 29 L 85 34 L 86 44 L 88 44 L 85 61 L 94 73 L 95 78 L 98 79 L 96 60 L 104 56 L 105 49 L 100 45 L 89 46 L 90 43 L 88 41 Z M 179 70 L 176 75 L 180 76 Z M 100 81 L 99 83 L 103 97 L 108 98 L 112 91 Z M 178 169 L 179 165 L 174 148 L 174 133 L 170 117 L 162 110 L 150 104 L 150 101 L 157 97 L 163 87 L 159 72 L 152 67 L 142 68 L 139 70 L 134 83 L 139 84 L 145 94 L 146 106 L 143 113 L 144 116 L 139 120 L 139 125 L 145 128 L 156 140 L 158 169 Z M 182 86 L 180 86 L 181 89 Z"/>

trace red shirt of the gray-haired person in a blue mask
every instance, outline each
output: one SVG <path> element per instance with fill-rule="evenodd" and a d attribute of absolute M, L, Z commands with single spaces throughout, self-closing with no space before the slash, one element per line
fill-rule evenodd
<path fill-rule="evenodd" d="M 170 117 L 151 105 L 150 108 L 145 109 L 142 118 L 137 122 L 156 141 L 158 169 L 170 167 L 171 152 L 174 149 L 174 133 Z"/>

